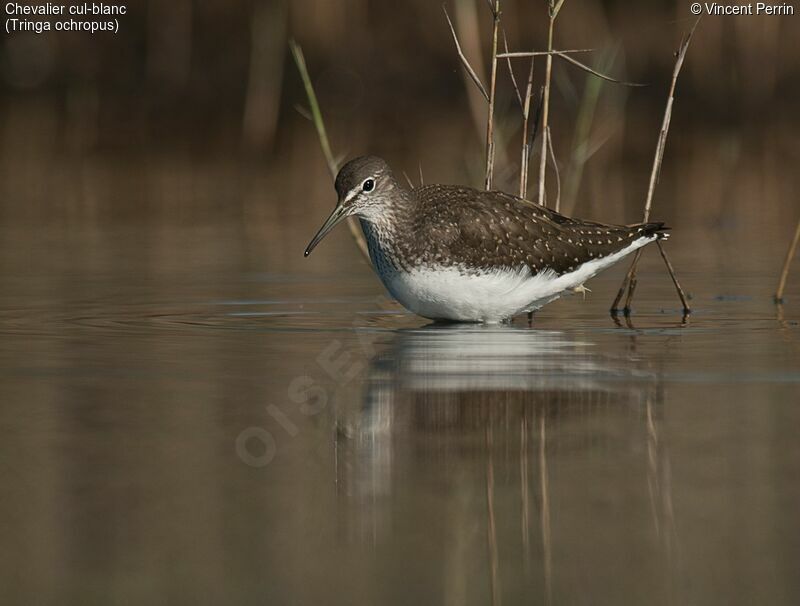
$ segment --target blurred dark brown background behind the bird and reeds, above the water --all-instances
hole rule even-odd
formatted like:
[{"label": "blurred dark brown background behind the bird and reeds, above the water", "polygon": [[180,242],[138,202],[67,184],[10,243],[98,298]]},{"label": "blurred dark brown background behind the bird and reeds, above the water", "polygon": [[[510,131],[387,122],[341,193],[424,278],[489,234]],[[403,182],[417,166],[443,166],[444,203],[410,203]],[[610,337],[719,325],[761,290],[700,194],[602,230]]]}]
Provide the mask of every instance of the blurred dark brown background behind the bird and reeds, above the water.
[{"label": "blurred dark brown background behind the bird and reeds, above the water", "polygon": [[[545,4],[503,3],[512,50],[546,46]],[[565,3],[556,47],[596,49],[582,59],[650,84],[600,84],[556,62],[551,124],[568,211],[619,222],[640,216],[673,52],[694,21],[688,7]],[[449,10],[485,80],[488,7],[454,0]],[[673,246],[727,259],[745,240],[778,262],[797,207],[799,19],[711,16],[700,24],[655,201],[654,216],[683,228],[677,234],[697,230]],[[421,166],[428,181],[480,185],[476,124],[485,108],[465,88],[439,3],[134,2],[116,36],[4,35],[3,258],[30,259],[36,236],[19,230],[39,233],[43,221],[56,234],[94,236],[120,225],[205,225],[209,232],[190,237],[202,241],[207,262],[246,242],[234,262],[259,270],[334,267],[338,254],[355,255],[342,233],[329,243],[337,254],[300,265],[333,196],[313,127],[295,109],[306,101],[289,37],[305,50],[337,155],[376,153],[415,181]],[[514,65],[524,80],[526,61]],[[543,71],[542,62],[536,86]],[[496,185],[515,191],[521,120],[506,65],[498,88]],[[535,180],[531,171],[534,190]],[[180,254],[156,256],[169,264]]]}]

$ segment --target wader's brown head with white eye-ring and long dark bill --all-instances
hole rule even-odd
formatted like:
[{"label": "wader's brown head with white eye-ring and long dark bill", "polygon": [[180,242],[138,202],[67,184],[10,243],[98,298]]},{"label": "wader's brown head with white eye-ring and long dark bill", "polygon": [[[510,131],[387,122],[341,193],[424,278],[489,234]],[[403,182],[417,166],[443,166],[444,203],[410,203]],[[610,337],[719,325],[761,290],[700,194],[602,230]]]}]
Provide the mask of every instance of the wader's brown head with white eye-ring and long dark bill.
[{"label": "wader's brown head with white eye-ring and long dark bill", "polygon": [[361,156],[345,164],[336,176],[336,208],[306,248],[305,256],[329,231],[347,217],[376,220],[385,214],[392,194],[400,188],[389,165],[376,156]]}]

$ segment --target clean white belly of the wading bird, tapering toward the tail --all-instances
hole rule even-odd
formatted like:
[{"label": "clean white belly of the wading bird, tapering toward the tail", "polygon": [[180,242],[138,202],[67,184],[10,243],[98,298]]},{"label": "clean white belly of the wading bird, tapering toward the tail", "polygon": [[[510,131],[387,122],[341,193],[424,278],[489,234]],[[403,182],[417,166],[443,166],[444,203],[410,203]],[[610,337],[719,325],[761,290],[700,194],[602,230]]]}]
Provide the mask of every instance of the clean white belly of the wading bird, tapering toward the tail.
[{"label": "clean white belly of the wading bird, tapering toward the tail", "polygon": [[376,268],[389,292],[420,316],[494,323],[539,309],[655,239],[639,238],[623,250],[561,276],[553,271],[532,275],[527,268],[484,273],[456,267],[420,267],[407,272],[388,271],[385,264],[376,264]]}]

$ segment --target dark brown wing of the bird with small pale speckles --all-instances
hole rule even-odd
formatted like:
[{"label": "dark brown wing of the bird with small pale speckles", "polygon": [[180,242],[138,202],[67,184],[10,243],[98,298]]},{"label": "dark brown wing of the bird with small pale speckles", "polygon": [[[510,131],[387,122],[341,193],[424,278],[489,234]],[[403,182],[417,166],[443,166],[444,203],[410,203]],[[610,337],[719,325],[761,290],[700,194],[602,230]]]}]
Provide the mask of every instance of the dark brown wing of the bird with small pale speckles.
[{"label": "dark brown wing of the bird with small pale speckles", "polygon": [[415,194],[420,216],[426,217],[417,236],[439,261],[457,259],[469,267],[524,265],[534,273],[550,269],[561,275],[665,229],[662,223],[621,226],[571,219],[496,191],[430,185]]}]

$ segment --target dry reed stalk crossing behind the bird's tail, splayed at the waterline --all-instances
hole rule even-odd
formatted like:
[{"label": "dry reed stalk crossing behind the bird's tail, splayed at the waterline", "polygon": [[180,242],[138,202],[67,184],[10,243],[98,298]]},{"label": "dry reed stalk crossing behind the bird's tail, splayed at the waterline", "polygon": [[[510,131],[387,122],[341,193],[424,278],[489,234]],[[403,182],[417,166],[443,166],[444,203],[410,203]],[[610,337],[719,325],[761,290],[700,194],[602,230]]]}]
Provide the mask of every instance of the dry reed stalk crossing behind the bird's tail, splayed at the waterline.
[{"label": "dry reed stalk crossing behind the bird's tail, splayed at the waterline", "polygon": [[[675,102],[675,87],[678,83],[678,76],[680,75],[681,68],[683,67],[683,61],[686,58],[686,51],[689,50],[689,44],[692,41],[692,36],[694,35],[695,29],[697,29],[697,24],[700,23],[700,19],[695,21],[694,26],[686,34],[681,41],[681,45],[678,48],[677,58],[675,60],[675,67],[672,70],[672,82],[670,84],[669,89],[669,96],[667,97],[667,105],[664,109],[664,119],[661,123],[661,131],[658,135],[658,142],[656,144],[656,153],[655,157],[653,158],[653,168],[650,172],[650,184],[647,189],[647,199],[645,200],[644,205],[644,218],[643,222],[646,223],[650,220],[650,209],[653,206],[653,194],[656,190],[656,185],[658,184],[659,177],[661,175],[661,164],[664,160],[664,149],[667,145],[667,135],[669,134],[669,126],[670,121],[672,120],[672,107]],[[664,251],[663,246],[659,243],[659,251],[661,252],[661,257],[664,259],[664,264],[667,267],[667,271],[669,272],[670,278],[672,279],[672,283],[675,285],[675,290],[678,293],[678,298],[681,300],[681,304],[683,305],[683,313],[684,315],[691,312],[689,305],[686,300],[686,294],[684,293],[683,289],[681,288],[680,283],[678,282],[678,278],[675,276],[675,272],[672,268],[672,264],[669,262],[669,258],[667,257],[666,251]],[[633,262],[631,263],[631,267],[628,270],[628,273],[625,275],[625,278],[622,281],[622,286],[617,293],[614,302],[611,304],[611,313],[617,313],[619,309],[619,303],[622,300],[622,296],[625,292],[625,289],[628,289],[628,296],[625,299],[625,308],[623,311],[625,314],[629,314],[631,311],[631,302],[633,301],[633,295],[636,292],[636,269],[639,265],[639,259],[642,257],[642,249],[636,251],[636,254],[633,257]]]}]

